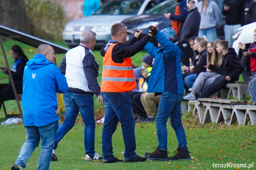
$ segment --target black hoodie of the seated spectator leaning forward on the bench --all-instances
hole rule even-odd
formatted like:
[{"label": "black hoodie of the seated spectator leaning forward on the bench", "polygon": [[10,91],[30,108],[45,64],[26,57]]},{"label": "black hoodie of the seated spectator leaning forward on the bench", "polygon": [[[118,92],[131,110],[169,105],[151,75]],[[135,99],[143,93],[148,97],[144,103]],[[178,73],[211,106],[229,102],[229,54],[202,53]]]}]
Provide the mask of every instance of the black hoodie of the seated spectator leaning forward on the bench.
[{"label": "black hoodie of the seated spectator leaning forward on the bench", "polygon": [[239,79],[239,75],[244,71],[244,66],[236,57],[236,52],[234,48],[228,48],[228,53],[222,57],[221,67],[214,65],[209,65],[209,69],[217,74],[222,74],[224,76],[229,76],[234,82]]}]

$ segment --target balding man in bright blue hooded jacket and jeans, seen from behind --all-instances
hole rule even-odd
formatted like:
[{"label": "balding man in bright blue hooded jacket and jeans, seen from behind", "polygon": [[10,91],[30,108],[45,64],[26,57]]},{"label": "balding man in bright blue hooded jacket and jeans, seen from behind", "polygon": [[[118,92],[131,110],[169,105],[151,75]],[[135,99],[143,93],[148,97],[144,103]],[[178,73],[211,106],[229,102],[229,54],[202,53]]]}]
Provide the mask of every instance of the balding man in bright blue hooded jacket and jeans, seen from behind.
[{"label": "balding man in bright blue hooded jacket and jeans, seen from behind", "polygon": [[28,158],[39,145],[40,138],[42,142],[37,170],[49,169],[59,127],[56,93],[65,93],[68,90],[66,77],[53,64],[54,58],[53,48],[42,44],[24,69],[22,108],[27,140],[21,147],[12,170],[25,168]]}]

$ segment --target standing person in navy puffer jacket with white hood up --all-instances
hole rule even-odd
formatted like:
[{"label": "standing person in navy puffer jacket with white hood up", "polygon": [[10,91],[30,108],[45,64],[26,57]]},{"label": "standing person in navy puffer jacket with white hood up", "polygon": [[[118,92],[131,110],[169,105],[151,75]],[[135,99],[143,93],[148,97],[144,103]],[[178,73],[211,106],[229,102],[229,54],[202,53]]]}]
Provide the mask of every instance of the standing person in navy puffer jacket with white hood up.
[{"label": "standing person in navy puffer jacket with white hood up", "polygon": [[180,58],[180,62],[187,67],[189,66],[189,58],[193,56],[193,50],[190,48],[188,39],[193,36],[197,37],[199,32],[201,16],[198,12],[197,6],[197,0],[187,0],[187,11],[189,14],[182,26],[180,34],[180,41],[184,47],[184,53]]}]

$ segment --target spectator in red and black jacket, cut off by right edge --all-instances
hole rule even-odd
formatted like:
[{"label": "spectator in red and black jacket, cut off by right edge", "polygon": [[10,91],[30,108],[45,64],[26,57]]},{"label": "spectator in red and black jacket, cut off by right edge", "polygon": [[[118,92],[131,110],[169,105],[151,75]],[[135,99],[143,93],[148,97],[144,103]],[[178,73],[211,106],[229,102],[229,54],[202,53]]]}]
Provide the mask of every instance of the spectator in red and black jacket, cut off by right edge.
[{"label": "spectator in red and black jacket, cut off by right edge", "polygon": [[250,65],[252,76],[254,77],[249,82],[249,94],[252,99],[252,103],[256,105],[256,29],[253,31],[254,42],[250,44],[249,48],[246,48],[245,44],[238,43],[238,46],[243,50],[245,57],[250,57]]}]

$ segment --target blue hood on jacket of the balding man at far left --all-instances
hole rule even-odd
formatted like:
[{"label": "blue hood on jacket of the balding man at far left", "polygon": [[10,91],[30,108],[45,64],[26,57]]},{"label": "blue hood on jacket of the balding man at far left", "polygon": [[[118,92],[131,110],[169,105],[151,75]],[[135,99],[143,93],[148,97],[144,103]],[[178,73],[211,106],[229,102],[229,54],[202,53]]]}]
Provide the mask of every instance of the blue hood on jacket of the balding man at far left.
[{"label": "blue hood on jacket of the balding man at far left", "polygon": [[47,60],[43,54],[36,54],[33,57],[33,59],[30,59],[27,62],[27,66],[31,69],[44,67],[47,64],[53,64],[53,63]]}]

